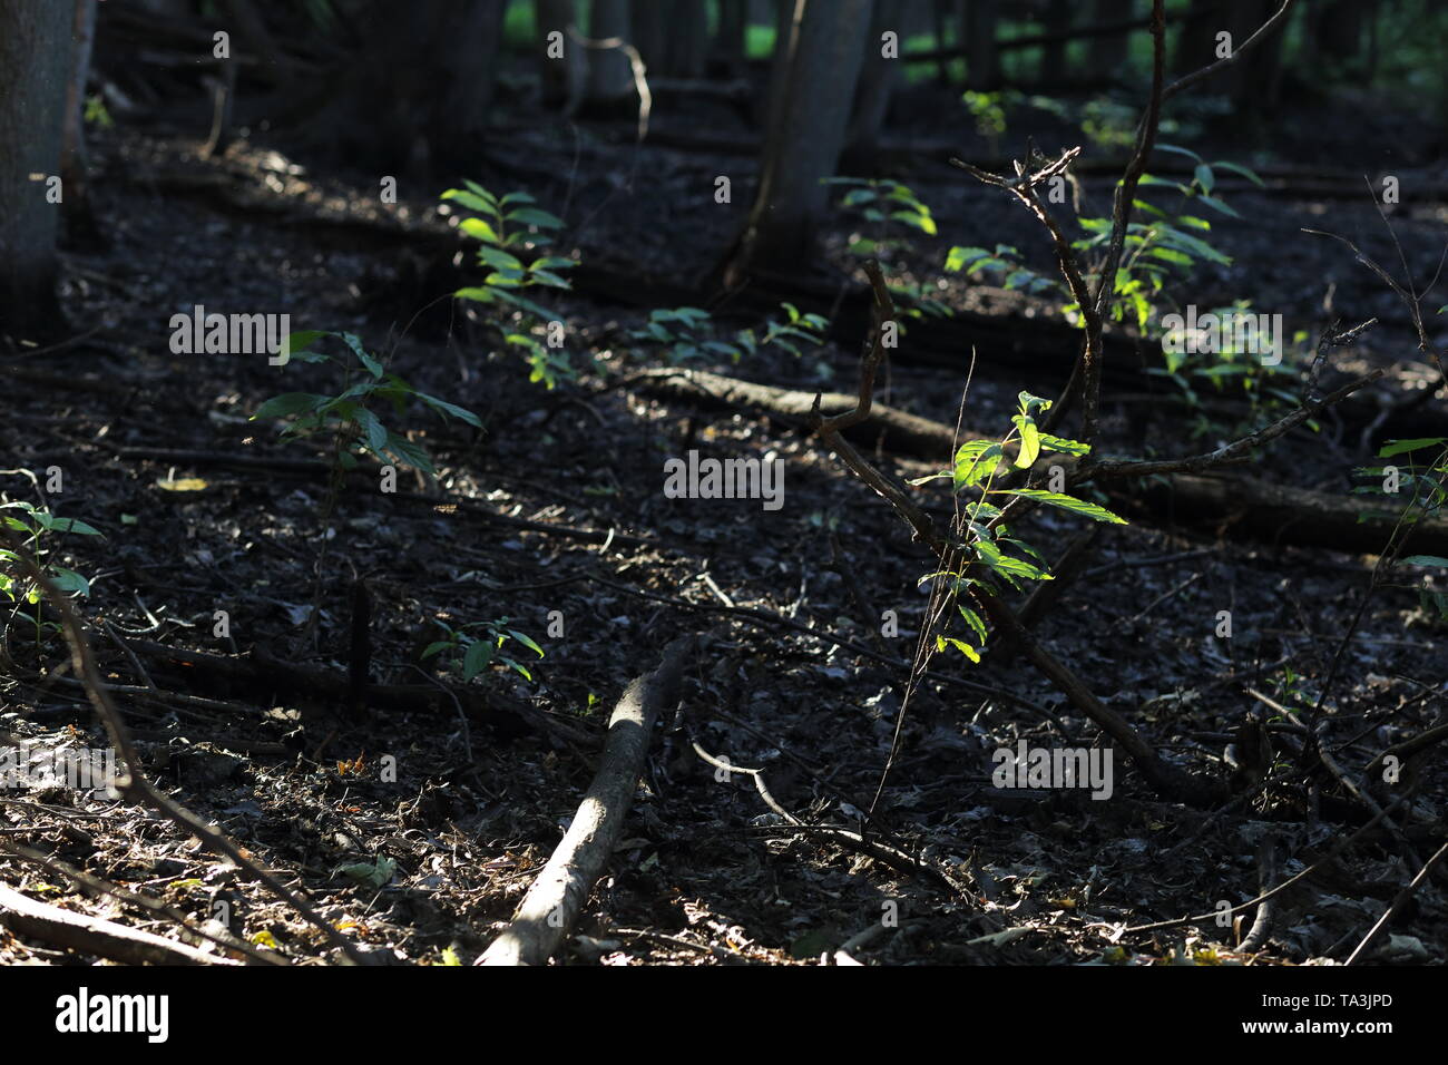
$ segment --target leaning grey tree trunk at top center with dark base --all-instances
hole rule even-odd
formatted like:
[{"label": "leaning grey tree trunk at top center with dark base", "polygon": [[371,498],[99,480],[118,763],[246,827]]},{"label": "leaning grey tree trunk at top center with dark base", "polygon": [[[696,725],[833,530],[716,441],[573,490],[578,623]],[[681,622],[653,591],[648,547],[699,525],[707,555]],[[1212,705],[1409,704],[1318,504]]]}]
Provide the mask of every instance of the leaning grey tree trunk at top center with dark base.
[{"label": "leaning grey tree trunk at top center with dark base", "polygon": [[850,101],[864,55],[872,0],[795,0],[789,38],[776,55],[778,99],[749,223],[725,284],[756,267],[799,268],[844,145]]}]

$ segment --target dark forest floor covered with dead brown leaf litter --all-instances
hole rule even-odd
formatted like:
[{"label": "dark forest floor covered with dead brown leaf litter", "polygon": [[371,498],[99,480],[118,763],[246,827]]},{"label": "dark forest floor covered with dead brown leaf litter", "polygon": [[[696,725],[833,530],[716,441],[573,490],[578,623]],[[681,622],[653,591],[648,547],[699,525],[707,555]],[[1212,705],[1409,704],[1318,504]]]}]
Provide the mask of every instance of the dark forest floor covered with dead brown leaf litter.
[{"label": "dark forest floor covered with dead brown leaf litter", "polygon": [[[959,109],[941,99],[941,109]],[[669,119],[656,117],[656,130],[727,133],[731,122],[682,113],[670,128]],[[1296,116],[1296,128],[1312,119]],[[992,154],[993,145],[957,125],[961,151]],[[935,123],[937,138],[941,129],[951,132]],[[1074,143],[1041,122],[1012,126],[1001,151],[1022,143],[1025,132],[1047,151]],[[1403,199],[1413,206],[1393,223],[1423,284],[1442,252],[1442,168],[1394,155],[1400,130],[1358,133],[1403,162]],[[7,364],[4,465],[42,478],[59,467],[56,513],[104,533],[62,536],[54,558],[90,578],[90,596],[77,606],[93,623],[94,651],[119,685],[148,774],[304,887],[358,942],[408,962],[466,964],[559,842],[614,700],[657,665],[673,636],[699,633],[708,639],[688,664],[681,709],[659,729],[626,838],[560,961],[814,962],[851,937],[853,958],[885,964],[1341,961],[1442,842],[1434,827],[1448,803],[1442,759],[1418,771],[1407,836],[1370,833],[1284,894],[1260,952],[1234,952],[1251,911],[1235,927],[1203,920],[1125,932],[1213,911],[1219,900],[1242,903],[1257,894],[1264,839],[1277,842],[1277,874],[1289,875],[1368,814],[1331,778],[1270,784],[1225,810],[1193,810],[1154,794],[1119,751],[1106,801],[1086,791],[993,787],[990,755],[999,748],[1105,743],[1008,651],[992,649],[980,665],[937,655],[901,723],[906,661],[925,609],[918,584],[931,569],[921,545],[808,433],[757,412],[711,410],[634,387],[631,375],[663,364],[656,349],[627,338],[646,317],[649,285],[672,291],[670,281],[686,285],[707,271],[746,210],[753,159],[698,145],[636,148],[631,136],[627,123],[542,130],[520,122],[472,175],[498,193],[526,188],[562,214],[566,246],[585,265],[640,278],[639,300],[610,301],[582,284],[553,300],[579,377],[549,391],[527,381],[517,356],[489,355],[488,323],[469,320],[462,304],[445,300],[410,322],[423,303],[476,274],[466,259],[449,265],[463,245],[434,210],[440,187],[404,180],[400,206],[382,207],[375,175],[298,165],[261,141],[201,161],[197,138],[178,130],[98,135],[93,194],[107,246],[67,255],[65,306],[78,330],[100,329],[72,348]],[[1215,152],[1192,145],[1209,159],[1255,162],[1229,143]],[[1296,149],[1284,143],[1283,156]],[[1316,149],[1321,159],[1293,161],[1325,171],[1338,158],[1332,143]],[[941,303],[1001,316],[1008,327],[1060,319],[1058,301],[940,270],[951,245],[1005,243],[1048,271],[1047,243],[1027,212],[940,158],[905,159],[896,172],[931,206],[940,230],[912,238],[892,264],[896,277],[931,284]],[[720,174],[734,175],[733,206],[712,199]],[[1423,203],[1415,187],[1435,188],[1436,199]],[[1089,177],[1085,193],[1108,213],[1111,178]],[[1347,325],[1377,316],[1380,326],[1360,345],[1334,354],[1326,384],[1384,368],[1376,388],[1392,401],[1431,380],[1392,293],[1347,248],[1300,233],[1331,229],[1396,264],[1365,188],[1322,199],[1295,193],[1290,180],[1266,190],[1232,181],[1221,194],[1242,216],[1219,219],[1212,233],[1232,264],[1193,275],[1195,303],[1250,294],[1255,307],[1283,313],[1289,332],[1312,338],[1335,316]],[[856,268],[846,249],[856,227],[837,217],[827,229],[837,277]],[[195,304],[285,310],[294,329],[353,332],[390,369],[475,412],[485,427],[413,412],[405,425],[439,465],[436,487],[404,472],[400,491],[382,494],[363,467],[329,513],[324,469],[291,462],[326,462],[326,451],[281,443],[274,425],[248,420],[269,396],[323,388],[321,371],[172,354],[171,314]],[[730,304],[715,307],[715,319],[731,329],[760,325],[736,319]],[[1134,343],[1131,329],[1116,332]],[[1444,332],[1434,329],[1435,342]],[[799,356],[766,349],[737,365],[694,365],[850,391],[862,339],[831,339]],[[982,348],[975,355],[963,427],[999,435],[1018,391],[1057,394],[1074,349],[1067,345],[1048,365]],[[882,398],[954,425],[970,365],[970,351],[953,367],[912,361],[906,332]],[[1300,372],[1289,380],[1296,390]],[[1239,423],[1270,417],[1231,390],[1199,409],[1150,378],[1138,377],[1129,393],[1109,393],[1111,454],[1195,454],[1231,439]],[[1442,400],[1420,413],[1441,422]],[[1347,497],[1352,467],[1370,464],[1381,442],[1365,429],[1325,417],[1322,432],[1287,435],[1251,474]],[[782,458],[783,509],[665,498],[663,459],[691,449]],[[948,461],[876,458],[901,477]],[[38,501],[12,474],[7,497]],[[950,506],[948,493],[933,487],[918,498],[941,511]],[[1032,516],[1018,535],[1054,562],[1083,525],[1053,511]],[[1266,707],[1250,688],[1310,706],[1374,562],[1361,552],[1250,539],[1228,514],[1189,525],[1132,511],[1129,525],[1103,527],[1080,549],[1079,574],[1037,635],[1170,762],[1221,778],[1224,748],[1248,713]],[[443,678],[437,659],[418,659],[433,639],[432,619],[508,619],[546,653],[527,653],[531,680],[501,667],[473,680],[476,701],[466,707],[434,698],[374,706],[362,717],[346,717],[336,698],[268,681],[265,669],[261,681],[226,677],[209,659],[185,658],[262,651],[264,667],[281,661],[345,675],[358,578],[372,603],[374,684],[426,691]],[[217,610],[227,611],[227,638],[214,635]],[[882,651],[876,619],[886,610],[896,611],[899,632]],[[1219,610],[1232,613],[1231,639],[1215,635]],[[61,640],[36,642],[23,622],[7,633],[0,736],[103,746]],[[1334,749],[1352,772],[1444,720],[1442,633],[1412,588],[1373,597],[1326,700]],[[139,651],[135,659],[123,642]],[[1273,756],[1287,765],[1293,726],[1274,722]],[[896,732],[899,755],[872,822],[872,832],[909,855],[892,868],[808,824],[860,826]],[[695,745],[760,769],[773,800],[807,827],[772,811],[753,775],[720,772]],[[384,778],[385,764],[395,765],[395,781]],[[295,959],[326,949],[295,913],[155,814],[65,788],[7,793],[0,811],[6,839],[161,897],[198,923],[224,898],[232,927],[246,937]],[[70,909],[175,935],[129,906],[85,900],[62,877],[19,859],[0,855],[0,877]],[[898,923],[882,923],[895,914]],[[1442,962],[1445,929],[1442,884],[1425,885],[1376,956]],[[62,959],[0,932],[0,962]]]}]

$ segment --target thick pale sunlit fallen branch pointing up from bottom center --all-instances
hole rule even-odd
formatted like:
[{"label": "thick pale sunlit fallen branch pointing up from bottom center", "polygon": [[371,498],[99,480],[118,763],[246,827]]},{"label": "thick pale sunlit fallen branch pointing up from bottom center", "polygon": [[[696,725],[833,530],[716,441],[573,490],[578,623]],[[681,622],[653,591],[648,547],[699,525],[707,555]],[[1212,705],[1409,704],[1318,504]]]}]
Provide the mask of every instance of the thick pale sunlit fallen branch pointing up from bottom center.
[{"label": "thick pale sunlit fallen branch pointing up from bottom center", "polygon": [[683,659],[692,636],[673,640],[652,674],[633,681],[613,716],[594,782],[573,814],[563,842],[523,897],[513,920],[475,962],[476,965],[546,965],[588,901],[594,882],[614,852],[649,736],[659,714],[679,701]]}]

